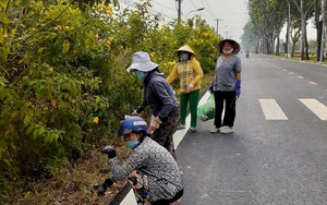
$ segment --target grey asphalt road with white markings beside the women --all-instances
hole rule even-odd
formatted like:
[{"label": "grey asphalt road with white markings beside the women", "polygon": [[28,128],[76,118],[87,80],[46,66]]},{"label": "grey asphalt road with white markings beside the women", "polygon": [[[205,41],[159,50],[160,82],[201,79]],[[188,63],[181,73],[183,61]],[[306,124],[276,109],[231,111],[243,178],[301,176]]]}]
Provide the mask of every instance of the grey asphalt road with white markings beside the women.
[{"label": "grey asphalt road with white markings beside the women", "polygon": [[243,56],[234,133],[175,133],[182,205],[327,205],[327,67]]}]

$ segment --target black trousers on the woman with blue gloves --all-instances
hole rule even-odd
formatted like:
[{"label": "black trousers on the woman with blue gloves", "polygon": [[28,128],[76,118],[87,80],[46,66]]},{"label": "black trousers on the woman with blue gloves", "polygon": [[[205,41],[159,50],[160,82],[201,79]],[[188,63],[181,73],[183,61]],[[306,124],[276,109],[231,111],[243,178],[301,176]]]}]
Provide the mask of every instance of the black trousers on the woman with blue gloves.
[{"label": "black trousers on the woman with blue gloves", "polygon": [[[235,105],[237,95],[235,92],[214,92],[215,95],[215,126],[233,126],[235,120]],[[222,118],[222,111],[223,118]]]}]

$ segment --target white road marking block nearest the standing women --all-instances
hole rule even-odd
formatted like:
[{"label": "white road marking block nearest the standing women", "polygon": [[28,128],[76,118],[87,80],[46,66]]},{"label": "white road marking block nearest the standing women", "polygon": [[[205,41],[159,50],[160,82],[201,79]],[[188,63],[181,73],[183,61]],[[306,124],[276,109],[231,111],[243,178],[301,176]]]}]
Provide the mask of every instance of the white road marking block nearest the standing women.
[{"label": "white road marking block nearest the standing women", "polygon": [[266,120],[288,120],[275,99],[259,99]]}]

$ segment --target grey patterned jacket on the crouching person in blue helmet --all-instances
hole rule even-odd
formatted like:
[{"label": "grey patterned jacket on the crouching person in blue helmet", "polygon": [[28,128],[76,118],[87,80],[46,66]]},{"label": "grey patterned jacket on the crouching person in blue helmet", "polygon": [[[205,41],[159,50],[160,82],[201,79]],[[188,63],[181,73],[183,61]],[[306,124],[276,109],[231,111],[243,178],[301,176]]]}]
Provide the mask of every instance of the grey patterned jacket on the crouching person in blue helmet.
[{"label": "grey patterned jacket on the crouching person in blue helmet", "polygon": [[150,200],[170,200],[183,189],[181,171],[172,155],[149,137],[138,144],[123,165],[109,159],[112,181],[123,180],[133,170],[147,176]]}]

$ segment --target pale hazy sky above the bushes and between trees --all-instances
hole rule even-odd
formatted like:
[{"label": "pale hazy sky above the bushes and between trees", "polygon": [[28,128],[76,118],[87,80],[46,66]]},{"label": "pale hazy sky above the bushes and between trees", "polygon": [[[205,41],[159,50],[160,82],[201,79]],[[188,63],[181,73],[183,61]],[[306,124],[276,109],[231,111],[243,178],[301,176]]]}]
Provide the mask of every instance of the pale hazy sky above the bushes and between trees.
[{"label": "pale hazy sky above the bushes and between trees", "polygon": [[[121,0],[124,5],[131,5],[141,0]],[[152,0],[153,8],[150,13],[161,13],[167,22],[178,17],[178,2],[175,0]],[[247,0],[182,0],[181,20],[199,14],[202,19],[217,31],[223,38],[232,38],[241,41],[243,27],[249,21]],[[203,11],[195,11],[204,8]],[[310,21],[312,22],[312,21]],[[281,32],[280,38],[284,38],[286,32]],[[315,39],[315,29],[313,25],[307,26],[308,39]]]}]

